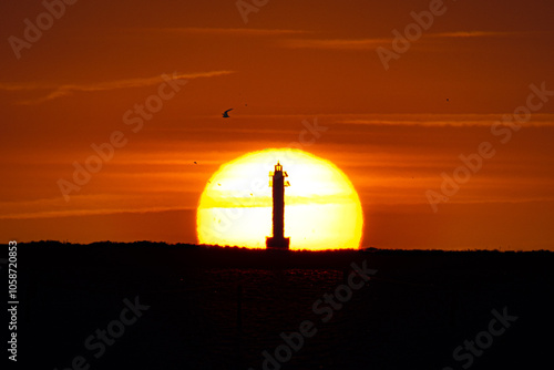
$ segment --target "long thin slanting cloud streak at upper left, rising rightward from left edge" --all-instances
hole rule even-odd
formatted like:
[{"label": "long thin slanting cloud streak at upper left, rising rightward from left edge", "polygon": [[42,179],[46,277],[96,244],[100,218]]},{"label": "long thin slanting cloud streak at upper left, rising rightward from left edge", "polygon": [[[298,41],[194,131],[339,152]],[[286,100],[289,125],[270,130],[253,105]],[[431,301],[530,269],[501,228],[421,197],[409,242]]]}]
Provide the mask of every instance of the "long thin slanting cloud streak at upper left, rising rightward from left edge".
[{"label": "long thin slanting cloud streak at upper left, rising rightward from left edge", "polygon": [[[201,78],[214,78],[235,73],[234,71],[211,71],[211,72],[197,72],[197,73],[177,73],[167,74],[166,79],[171,80],[193,80]],[[162,75],[151,76],[151,78],[135,78],[125,80],[114,80],[104,81],[96,83],[85,83],[85,84],[38,84],[38,83],[0,83],[0,90],[3,91],[43,91],[50,90],[47,95],[41,97],[21,101],[19,104],[30,105],[40,104],[50,100],[58,97],[71,95],[76,92],[99,92],[99,91],[111,91],[120,89],[133,89],[133,88],[145,88],[157,85],[164,81]]]}]

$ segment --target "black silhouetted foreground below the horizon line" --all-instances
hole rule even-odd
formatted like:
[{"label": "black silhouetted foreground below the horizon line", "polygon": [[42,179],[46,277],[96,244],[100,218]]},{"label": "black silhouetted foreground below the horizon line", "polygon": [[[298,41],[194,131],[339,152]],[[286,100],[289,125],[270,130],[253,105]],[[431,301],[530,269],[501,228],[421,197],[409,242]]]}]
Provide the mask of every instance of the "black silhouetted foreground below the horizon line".
[{"label": "black silhouetted foreground below the horizon line", "polygon": [[18,369],[542,369],[553,362],[554,254],[547,251],[35,243],[18,245]]}]

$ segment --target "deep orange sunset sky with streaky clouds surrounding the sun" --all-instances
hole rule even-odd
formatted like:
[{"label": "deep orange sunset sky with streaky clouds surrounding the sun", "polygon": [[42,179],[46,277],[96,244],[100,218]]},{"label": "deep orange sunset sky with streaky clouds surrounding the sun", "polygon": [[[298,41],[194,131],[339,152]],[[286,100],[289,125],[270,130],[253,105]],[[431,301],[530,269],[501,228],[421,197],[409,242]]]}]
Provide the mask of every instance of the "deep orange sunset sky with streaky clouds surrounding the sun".
[{"label": "deep orange sunset sky with streaky clouds surrounding the sun", "polygon": [[1,243],[197,243],[219,166],[294,145],[348,176],[365,247],[554,250],[552,0],[431,1],[427,30],[429,1],[256,2],[2,1]]}]

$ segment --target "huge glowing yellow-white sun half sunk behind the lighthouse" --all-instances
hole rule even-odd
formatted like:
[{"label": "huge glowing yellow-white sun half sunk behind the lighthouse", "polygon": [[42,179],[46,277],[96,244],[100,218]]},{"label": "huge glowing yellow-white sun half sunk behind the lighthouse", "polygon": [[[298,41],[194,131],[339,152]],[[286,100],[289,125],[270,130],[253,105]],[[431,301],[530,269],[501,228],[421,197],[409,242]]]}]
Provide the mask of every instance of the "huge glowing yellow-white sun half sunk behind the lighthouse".
[{"label": "huge glowing yellow-white sun half sunk behind the lighthouse", "polygon": [[199,199],[198,241],[266,247],[273,209],[268,175],[277,162],[290,182],[285,189],[290,249],[358,248],[363,214],[352,183],[329,161],[294,148],[252,152],[222,165]]}]

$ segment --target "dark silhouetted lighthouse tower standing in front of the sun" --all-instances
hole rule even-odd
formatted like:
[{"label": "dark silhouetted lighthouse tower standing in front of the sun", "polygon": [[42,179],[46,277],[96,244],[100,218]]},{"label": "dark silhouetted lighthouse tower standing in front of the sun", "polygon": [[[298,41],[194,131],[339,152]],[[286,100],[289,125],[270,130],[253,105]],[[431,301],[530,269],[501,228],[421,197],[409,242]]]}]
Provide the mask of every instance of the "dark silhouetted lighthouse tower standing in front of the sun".
[{"label": "dark silhouetted lighthouse tower standing in front of the sun", "polygon": [[285,237],[285,187],[290,184],[285,177],[288,175],[277,162],[275,171],[269,173],[269,186],[273,186],[274,198],[274,236],[266,238],[267,248],[288,249],[290,245],[290,238]]}]

